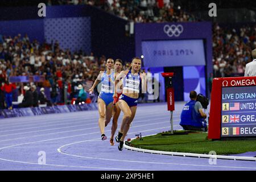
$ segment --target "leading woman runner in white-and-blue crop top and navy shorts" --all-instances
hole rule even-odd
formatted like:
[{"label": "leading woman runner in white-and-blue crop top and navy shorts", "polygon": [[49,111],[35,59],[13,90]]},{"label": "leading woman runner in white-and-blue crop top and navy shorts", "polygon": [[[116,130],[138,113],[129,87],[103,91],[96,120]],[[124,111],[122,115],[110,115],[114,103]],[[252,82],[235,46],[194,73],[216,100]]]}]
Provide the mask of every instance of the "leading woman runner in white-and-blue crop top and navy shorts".
[{"label": "leading woman runner in white-and-blue crop top and navy shorts", "polygon": [[142,93],[146,92],[146,73],[139,73],[140,69],[141,59],[135,57],[132,59],[131,69],[122,71],[115,78],[115,93],[113,97],[117,97],[117,84],[123,78],[123,92],[118,101],[118,106],[123,112],[123,121],[121,129],[117,137],[115,137],[116,142],[119,142],[118,149],[120,151],[123,148],[126,134],[130,129],[130,123],[135,117],[140,88],[142,88]]}]

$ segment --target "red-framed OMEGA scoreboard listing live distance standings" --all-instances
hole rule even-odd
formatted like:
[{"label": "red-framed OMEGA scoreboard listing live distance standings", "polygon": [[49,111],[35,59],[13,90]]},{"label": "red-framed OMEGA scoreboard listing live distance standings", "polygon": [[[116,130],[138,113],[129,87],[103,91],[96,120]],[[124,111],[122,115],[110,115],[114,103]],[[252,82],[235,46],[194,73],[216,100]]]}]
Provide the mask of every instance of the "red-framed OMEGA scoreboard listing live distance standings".
[{"label": "red-framed OMEGA scoreboard listing live distance standings", "polygon": [[210,139],[256,137],[256,77],[214,78]]}]

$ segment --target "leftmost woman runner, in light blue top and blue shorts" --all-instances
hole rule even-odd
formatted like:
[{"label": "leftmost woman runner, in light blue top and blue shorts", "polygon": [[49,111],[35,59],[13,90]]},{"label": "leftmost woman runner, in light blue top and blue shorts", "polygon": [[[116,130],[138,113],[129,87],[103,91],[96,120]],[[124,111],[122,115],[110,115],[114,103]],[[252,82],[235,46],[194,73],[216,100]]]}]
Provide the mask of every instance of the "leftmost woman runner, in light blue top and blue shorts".
[{"label": "leftmost woman runner, in light blue top and blue shorts", "polygon": [[101,71],[97,79],[94,81],[89,92],[93,92],[96,85],[101,82],[101,92],[98,96],[98,126],[100,126],[101,139],[106,140],[105,123],[109,123],[113,113],[113,94],[114,94],[114,60],[108,59],[106,61],[106,71]]}]

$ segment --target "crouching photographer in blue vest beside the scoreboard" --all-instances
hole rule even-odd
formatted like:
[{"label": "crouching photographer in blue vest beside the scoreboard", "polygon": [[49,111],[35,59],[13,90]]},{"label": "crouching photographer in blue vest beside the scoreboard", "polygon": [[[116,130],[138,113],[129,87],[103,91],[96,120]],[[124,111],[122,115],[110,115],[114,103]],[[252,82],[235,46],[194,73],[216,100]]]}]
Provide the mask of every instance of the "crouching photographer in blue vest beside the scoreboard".
[{"label": "crouching photographer in blue vest beside the scoreboard", "polygon": [[[203,111],[202,101],[197,101],[197,97],[200,97],[200,99],[205,102],[208,102],[208,99],[200,94],[197,96],[196,91],[191,91],[189,97],[191,100],[185,104],[181,112],[180,126],[182,126],[184,130],[207,131],[207,123],[205,121],[207,114]],[[206,104],[206,109],[208,104]]]}]

